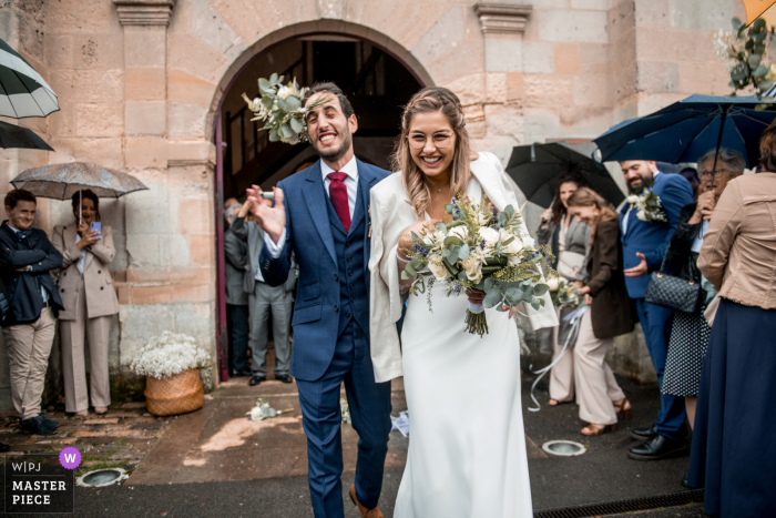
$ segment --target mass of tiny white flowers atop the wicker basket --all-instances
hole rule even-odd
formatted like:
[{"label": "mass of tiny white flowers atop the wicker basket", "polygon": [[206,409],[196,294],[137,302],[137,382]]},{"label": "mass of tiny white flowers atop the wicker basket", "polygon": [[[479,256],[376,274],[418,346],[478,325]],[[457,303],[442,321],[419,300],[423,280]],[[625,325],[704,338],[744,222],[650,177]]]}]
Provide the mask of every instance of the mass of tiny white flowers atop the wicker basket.
[{"label": "mass of tiny white flowers atop the wicker basket", "polygon": [[163,378],[204,367],[210,360],[210,354],[198,347],[194,338],[165,331],[137,351],[131,367],[141,376]]}]

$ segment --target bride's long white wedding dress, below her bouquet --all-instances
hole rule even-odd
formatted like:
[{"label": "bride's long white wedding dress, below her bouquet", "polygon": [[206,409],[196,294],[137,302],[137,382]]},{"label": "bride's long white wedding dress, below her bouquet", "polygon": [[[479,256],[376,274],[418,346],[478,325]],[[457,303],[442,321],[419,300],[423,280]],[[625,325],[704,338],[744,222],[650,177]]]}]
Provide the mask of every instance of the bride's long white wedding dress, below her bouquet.
[{"label": "bride's long white wedding dress, below her bouquet", "polygon": [[[467,186],[480,200],[476,179]],[[466,294],[409,297],[401,331],[409,455],[395,518],[533,516],[520,399],[520,338],[507,313],[464,331]]]}]

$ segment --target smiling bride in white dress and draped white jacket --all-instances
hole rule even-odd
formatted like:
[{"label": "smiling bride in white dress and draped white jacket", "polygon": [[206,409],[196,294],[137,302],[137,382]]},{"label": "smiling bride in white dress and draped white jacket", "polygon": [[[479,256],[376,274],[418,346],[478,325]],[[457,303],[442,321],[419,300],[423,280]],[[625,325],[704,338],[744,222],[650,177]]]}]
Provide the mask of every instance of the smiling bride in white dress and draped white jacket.
[{"label": "smiling bride in white dress and draped white jacket", "polygon": [[[479,203],[518,207],[501,162],[469,148],[460,101],[445,88],[418,92],[405,109],[395,170],[371,189],[371,357],[377,382],[405,377],[409,456],[397,518],[531,517],[531,488],[520,398],[520,343],[512,311],[486,309],[490,333],[464,332],[467,297],[446,297],[441,283],[407,298],[400,281],[410,231],[451,220],[456,186]],[[523,228],[527,233],[527,230]],[[558,325],[549,295],[528,307],[532,327]],[[408,301],[401,329],[396,323]],[[431,307],[429,307],[429,302]],[[501,309],[504,309],[506,306]],[[508,309],[508,308],[507,308]]]}]

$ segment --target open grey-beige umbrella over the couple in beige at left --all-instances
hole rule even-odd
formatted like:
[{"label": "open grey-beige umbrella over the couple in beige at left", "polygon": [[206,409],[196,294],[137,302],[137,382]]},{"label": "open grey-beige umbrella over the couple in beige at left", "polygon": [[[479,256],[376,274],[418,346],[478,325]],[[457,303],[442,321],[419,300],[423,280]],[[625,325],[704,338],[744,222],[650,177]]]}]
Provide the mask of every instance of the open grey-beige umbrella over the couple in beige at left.
[{"label": "open grey-beige umbrella over the couple in beige at left", "polygon": [[100,197],[121,197],[147,190],[136,177],[91,162],[72,162],[28,169],[11,180],[16,189],[35,196],[70,200],[74,193],[91,189]]}]

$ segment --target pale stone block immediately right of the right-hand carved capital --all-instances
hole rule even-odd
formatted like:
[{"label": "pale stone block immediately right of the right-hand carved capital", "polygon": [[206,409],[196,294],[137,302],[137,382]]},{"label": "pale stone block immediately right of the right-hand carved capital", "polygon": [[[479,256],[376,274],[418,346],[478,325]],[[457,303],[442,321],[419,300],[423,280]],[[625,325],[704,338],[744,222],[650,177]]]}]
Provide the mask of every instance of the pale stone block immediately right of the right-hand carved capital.
[{"label": "pale stone block immediately right of the right-hand carved capital", "polygon": [[531,23],[547,41],[607,43],[606,19],[604,11],[545,10],[537,11]]}]

